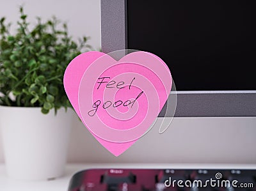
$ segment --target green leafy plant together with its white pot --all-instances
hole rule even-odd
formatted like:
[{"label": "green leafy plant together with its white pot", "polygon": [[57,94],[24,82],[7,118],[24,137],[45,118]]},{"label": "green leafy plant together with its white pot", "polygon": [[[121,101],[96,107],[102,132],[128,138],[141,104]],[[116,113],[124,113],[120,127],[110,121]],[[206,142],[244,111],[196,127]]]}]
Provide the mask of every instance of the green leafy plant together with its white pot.
[{"label": "green leafy plant together with its white pot", "polygon": [[20,7],[17,33],[0,20],[0,126],[8,174],[42,180],[63,174],[72,112],[63,88],[68,63],[90,49],[56,18],[30,27]]}]

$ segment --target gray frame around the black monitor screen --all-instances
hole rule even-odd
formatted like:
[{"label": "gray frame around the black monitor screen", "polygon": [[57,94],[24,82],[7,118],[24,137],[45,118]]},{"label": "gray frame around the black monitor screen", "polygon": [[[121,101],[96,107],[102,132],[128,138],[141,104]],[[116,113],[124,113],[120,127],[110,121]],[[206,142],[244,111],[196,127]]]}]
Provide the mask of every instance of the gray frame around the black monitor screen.
[{"label": "gray frame around the black monitor screen", "polygon": [[[101,0],[101,43],[102,51],[105,53],[127,49],[126,2],[127,0]],[[256,90],[177,90],[176,93],[177,109],[175,117],[256,116]],[[164,116],[164,111],[163,109],[160,112],[159,117]],[[167,116],[170,116],[170,114],[167,113]]]}]

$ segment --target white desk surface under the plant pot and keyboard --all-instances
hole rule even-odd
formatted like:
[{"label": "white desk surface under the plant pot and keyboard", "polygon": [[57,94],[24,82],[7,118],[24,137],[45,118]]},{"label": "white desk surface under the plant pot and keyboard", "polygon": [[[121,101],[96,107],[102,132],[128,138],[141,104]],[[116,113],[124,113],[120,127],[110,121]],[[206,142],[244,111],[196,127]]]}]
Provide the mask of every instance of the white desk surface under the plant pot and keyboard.
[{"label": "white desk surface under the plant pot and keyboard", "polygon": [[68,164],[62,178],[50,181],[18,181],[8,178],[4,164],[0,164],[2,191],[67,191],[73,174],[92,168],[151,168],[151,169],[256,169],[256,165],[237,164]]}]

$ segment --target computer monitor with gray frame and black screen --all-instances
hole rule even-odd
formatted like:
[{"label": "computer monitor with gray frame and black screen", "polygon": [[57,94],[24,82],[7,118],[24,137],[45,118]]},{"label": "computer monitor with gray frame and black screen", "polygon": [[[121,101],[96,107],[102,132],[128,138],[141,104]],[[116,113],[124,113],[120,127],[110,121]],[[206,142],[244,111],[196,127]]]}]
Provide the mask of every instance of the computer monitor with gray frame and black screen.
[{"label": "computer monitor with gray frame and black screen", "polygon": [[249,1],[102,0],[102,51],[161,57],[176,117],[256,116],[253,12]]}]

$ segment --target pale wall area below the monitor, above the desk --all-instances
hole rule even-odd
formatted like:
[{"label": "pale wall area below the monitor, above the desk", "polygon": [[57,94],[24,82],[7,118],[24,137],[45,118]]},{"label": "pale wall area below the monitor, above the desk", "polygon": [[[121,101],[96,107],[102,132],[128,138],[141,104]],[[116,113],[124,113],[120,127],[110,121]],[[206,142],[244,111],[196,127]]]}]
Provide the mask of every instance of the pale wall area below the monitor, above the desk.
[{"label": "pale wall area below the monitor, above the desk", "polygon": [[74,118],[68,161],[256,164],[255,125],[255,117],[174,118],[163,134],[156,123],[131,148],[114,157]]}]

